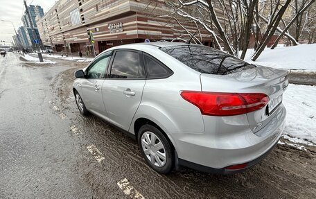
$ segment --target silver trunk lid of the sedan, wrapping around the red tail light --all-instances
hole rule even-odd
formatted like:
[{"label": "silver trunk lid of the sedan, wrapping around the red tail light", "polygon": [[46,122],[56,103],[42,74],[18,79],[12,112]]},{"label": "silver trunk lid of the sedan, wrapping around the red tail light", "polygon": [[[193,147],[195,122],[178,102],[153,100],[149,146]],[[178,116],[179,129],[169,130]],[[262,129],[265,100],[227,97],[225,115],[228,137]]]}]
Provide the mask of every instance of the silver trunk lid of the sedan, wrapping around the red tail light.
[{"label": "silver trunk lid of the sedan, wrapping around the red tail light", "polygon": [[282,103],[283,92],[288,87],[288,71],[256,66],[225,76],[202,73],[202,92],[263,93],[269,96],[265,107],[247,113],[249,127],[256,133],[274,116]]}]

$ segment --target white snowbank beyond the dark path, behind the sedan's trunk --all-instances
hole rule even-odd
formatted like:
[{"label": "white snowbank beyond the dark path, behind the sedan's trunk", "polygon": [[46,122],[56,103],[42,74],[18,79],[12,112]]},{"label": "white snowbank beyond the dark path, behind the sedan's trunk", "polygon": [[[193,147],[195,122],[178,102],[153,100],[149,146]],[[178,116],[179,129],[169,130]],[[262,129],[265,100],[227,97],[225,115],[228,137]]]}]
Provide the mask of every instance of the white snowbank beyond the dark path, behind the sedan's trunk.
[{"label": "white snowbank beyond the dark path, behind the sedan's trunk", "polygon": [[251,58],[254,54],[254,49],[248,49],[245,61],[277,69],[316,71],[315,52],[316,44],[277,47],[274,50],[265,49],[259,58],[252,62]]}]

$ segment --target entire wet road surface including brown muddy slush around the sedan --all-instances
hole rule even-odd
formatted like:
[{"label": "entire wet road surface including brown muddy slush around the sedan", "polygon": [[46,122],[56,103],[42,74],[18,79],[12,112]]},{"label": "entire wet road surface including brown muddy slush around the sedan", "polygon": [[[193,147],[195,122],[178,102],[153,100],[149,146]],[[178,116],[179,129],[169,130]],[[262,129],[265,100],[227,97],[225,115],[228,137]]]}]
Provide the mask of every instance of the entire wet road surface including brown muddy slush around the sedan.
[{"label": "entire wet road surface including brown muddy slush around the sedan", "polygon": [[0,198],[315,198],[315,148],[278,146],[237,175],[155,173],[133,139],[79,114],[73,71],[87,63],[55,61],[0,58]]}]

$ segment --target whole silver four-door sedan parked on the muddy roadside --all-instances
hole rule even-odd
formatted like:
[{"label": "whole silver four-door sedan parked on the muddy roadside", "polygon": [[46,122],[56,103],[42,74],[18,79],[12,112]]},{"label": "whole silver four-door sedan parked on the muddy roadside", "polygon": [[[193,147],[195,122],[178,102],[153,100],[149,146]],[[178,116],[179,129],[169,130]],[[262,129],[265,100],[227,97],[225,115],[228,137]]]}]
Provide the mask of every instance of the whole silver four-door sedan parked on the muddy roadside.
[{"label": "whole silver four-door sedan parked on the muddy roadside", "polygon": [[127,44],[76,71],[73,93],[81,114],[133,135],[159,173],[238,173],[281,137],[287,73],[197,44]]}]

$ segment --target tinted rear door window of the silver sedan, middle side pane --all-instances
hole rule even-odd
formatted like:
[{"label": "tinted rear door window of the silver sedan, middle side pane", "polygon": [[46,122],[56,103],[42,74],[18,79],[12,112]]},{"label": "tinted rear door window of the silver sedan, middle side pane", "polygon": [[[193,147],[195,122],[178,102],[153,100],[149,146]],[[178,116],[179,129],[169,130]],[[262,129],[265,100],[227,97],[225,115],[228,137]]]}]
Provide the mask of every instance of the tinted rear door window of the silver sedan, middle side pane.
[{"label": "tinted rear door window of the silver sedan, middle side pane", "polygon": [[113,60],[109,78],[137,79],[145,78],[139,53],[134,51],[117,51]]}]

